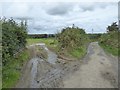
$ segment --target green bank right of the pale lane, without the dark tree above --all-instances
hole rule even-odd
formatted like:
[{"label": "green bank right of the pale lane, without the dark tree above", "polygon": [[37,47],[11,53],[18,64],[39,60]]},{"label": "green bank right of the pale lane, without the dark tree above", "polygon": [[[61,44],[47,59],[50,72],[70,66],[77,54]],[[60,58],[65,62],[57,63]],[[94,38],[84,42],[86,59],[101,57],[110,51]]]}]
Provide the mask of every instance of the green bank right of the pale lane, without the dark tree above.
[{"label": "green bank right of the pale lane, without the dark tree above", "polygon": [[120,56],[118,36],[120,32],[109,32],[103,34],[100,38],[99,45],[105,50],[105,52],[110,53],[114,56]]}]

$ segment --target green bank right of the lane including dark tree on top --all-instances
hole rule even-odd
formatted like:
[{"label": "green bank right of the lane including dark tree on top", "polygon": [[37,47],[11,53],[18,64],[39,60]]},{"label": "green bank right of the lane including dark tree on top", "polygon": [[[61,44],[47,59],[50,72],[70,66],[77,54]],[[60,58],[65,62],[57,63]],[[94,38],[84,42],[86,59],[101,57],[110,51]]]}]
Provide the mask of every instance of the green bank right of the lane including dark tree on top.
[{"label": "green bank right of the lane including dark tree on top", "polygon": [[118,25],[116,23],[113,23],[109,27],[108,33],[105,33],[100,38],[100,45],[105,49],[105,51],[120,56],[120,50],[119,48],[119,42],[118,38],[120,35],[120,32],[118,30]]}]

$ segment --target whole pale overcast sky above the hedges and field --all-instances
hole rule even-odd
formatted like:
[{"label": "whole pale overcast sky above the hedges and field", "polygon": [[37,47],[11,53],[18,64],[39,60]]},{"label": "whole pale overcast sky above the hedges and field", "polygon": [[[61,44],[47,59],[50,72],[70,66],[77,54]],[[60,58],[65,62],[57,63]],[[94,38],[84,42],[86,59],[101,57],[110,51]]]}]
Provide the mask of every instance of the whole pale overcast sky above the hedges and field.
[{"label": "whole pale overcast sky above the hedges and field", "polygon": [[21,18],[28,22],[29,34],[53,34],[62,28],[77,27],[86,33],[105,33],[108,25],[118,21],[118,2],[38,2],[6,1],[0,2],[0,15]]}]

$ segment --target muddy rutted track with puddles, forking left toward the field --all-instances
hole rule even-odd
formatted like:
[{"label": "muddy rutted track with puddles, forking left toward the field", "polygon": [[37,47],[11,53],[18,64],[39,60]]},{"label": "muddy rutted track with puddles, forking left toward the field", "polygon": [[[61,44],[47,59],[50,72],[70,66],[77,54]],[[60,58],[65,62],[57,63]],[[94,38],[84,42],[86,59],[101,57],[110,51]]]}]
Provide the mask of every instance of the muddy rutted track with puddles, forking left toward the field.
[{"label": "muddy rutted track with puddles, forking left toward the field", "polygon": [[[57,55],[50,51],[45,44],[36,44],[44,48],[48,53],[48,59],[32,58],[23,67],[21,79],[16,88],[58,88],[63,87],[63,78],[78,69],[79,61],[65,61],[58,59]],[[31,45],[32,47],[36,45]],[[59,61],[59,62],[58,62]]]}]

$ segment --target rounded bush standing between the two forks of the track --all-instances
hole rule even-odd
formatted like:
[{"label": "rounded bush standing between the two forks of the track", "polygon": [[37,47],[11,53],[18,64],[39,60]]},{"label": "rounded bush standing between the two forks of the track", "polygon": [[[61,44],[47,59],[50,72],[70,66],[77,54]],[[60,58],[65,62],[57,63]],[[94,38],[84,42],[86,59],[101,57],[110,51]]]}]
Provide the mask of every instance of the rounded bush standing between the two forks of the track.
[{"label": "rounded bush standing between the two forks of the track", "polygon": [[84,41],[88,38],[86,37],[83,29],[67,27],[62,30],[57,39],[61,44],[61,48],[73,48],[82,46]]}]

